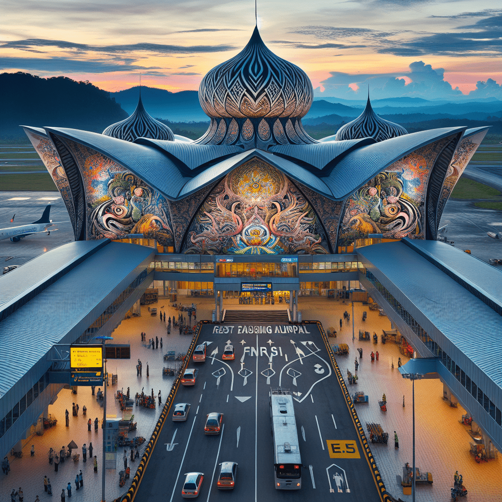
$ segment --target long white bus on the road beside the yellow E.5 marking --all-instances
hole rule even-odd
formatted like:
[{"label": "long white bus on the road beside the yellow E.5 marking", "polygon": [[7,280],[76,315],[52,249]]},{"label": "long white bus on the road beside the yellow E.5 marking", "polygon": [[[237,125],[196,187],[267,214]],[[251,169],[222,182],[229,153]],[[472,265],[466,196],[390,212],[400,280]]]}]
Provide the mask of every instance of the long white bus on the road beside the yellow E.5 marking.
[{"label": "long white bus on the road beside the yellow E.5 marking", "polygon": [[276,490],[299,490],[302,487],[302,460],[293,396],[289,390],[271,390],[270,416]]}]

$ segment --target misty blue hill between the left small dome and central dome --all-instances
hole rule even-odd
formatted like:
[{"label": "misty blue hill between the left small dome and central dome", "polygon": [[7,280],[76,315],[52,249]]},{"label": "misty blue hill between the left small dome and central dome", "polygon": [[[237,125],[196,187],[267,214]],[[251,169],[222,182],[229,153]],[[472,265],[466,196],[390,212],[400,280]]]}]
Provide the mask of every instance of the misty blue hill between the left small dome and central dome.
[{"label": "misty blue hill between the left small dome and central dome", "polygon": [[[131,87],[119,92],[110,92],[117,103],[129,114],[138,104],[140,87]],[[202,111],[197,91],[170,92],[155,87],[141,87],[141,100],[145,109],[155,118],[173,122],[199,122],[209,120]]]}]

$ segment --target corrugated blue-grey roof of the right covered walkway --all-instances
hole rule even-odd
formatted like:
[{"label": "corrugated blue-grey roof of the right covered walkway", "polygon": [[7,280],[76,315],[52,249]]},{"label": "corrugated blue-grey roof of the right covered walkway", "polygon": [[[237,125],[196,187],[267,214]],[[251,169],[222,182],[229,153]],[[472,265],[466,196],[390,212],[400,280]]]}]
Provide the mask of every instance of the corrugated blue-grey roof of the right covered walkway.
[{"label": "corrugated blue-grey roof of the right covered walkway", "polygon": [[[455,250],[443,245],[443,258],[447,259],[446,255],[451,253],[454,260]],[[502,319],[494,310],[404,242],[360,247],[357,253],[399,288],[458,350],[502,386],[500,361],[494,359],[502,346]],[[474,269],[478,266],[475,258],[463,255]],[[498,277],[491,280],[499,281]]]}]

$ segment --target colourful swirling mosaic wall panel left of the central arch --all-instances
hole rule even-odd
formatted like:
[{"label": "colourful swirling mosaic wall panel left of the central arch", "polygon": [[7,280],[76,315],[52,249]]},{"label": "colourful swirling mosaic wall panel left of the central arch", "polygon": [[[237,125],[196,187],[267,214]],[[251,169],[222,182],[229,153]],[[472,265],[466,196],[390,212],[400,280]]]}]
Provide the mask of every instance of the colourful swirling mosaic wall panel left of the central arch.
[{"label": "colourful swirling mosaic wall panel left of the central arch", "polygon": [[143,233],[173,246],[167,200],[135,174],[104,155],[65,140],[82,173],[87,204],[87,238],[121,238]]}]

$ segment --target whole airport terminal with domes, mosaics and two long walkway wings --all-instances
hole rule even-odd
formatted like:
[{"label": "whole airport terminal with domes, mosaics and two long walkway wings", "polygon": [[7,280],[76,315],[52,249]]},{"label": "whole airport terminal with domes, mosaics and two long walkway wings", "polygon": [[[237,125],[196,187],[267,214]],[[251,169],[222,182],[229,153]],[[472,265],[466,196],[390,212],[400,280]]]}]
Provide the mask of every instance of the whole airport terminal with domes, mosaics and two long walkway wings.
[{"label": "whole airport terminal with domes, mosaics and two long walkway wings", "polygon": [[[502,372],[490,362],[502,341],[502,274],[436,240],[487,128],[408,134],[368,98],[358,118],[316,141],[301,122],[310,80],[258,29],[203,78],[199,99],[211,122],[196,141],[173,135],[141,97],[101,135],[24,126],[75,242],[2,279],[2,351],[20,336],[33,350],[0,384],[0,454],[63,385],[52,346],[110,333],[154,281],[165,296],[214,296],[215,322],[228,297],[284,301],[299,322],[303,296],[360,285],[424,359],[414,371],[440,378],[500,450]],[[60,322],[55,306],[70,282],[81,288]],[[25,316],[38,319],[36,336],[30,325],[20,334]]]}]

